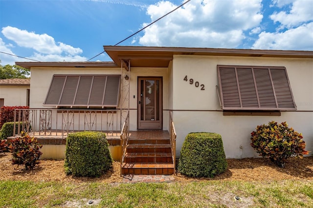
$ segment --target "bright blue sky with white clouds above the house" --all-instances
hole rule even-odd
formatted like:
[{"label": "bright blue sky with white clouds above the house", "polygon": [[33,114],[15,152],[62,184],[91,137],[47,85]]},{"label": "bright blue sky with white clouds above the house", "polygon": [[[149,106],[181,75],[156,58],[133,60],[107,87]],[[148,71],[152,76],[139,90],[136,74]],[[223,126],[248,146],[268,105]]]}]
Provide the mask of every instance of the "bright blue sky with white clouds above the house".
[{"label": "bright blue sky with white clouds above the house", "polygon": [[[0,0],[0,51],[87,61],[184,1]],[[119,45],[313,50],[313,0],[191,0]],[[1,65],[29,61],[4,53]]]}]

